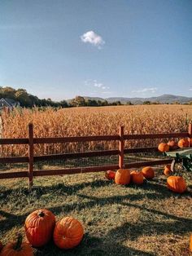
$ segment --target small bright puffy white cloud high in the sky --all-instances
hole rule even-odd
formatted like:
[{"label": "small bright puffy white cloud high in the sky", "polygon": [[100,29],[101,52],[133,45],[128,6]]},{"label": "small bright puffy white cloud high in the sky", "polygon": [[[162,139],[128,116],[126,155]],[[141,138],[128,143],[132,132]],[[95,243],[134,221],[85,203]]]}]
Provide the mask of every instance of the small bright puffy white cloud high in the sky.
[{"label": "small bright puffy white cloud high in the sky", "polygon": [[82,42],[89,42],[90,44],[97,46],[98,49],[101,49],[101,46],[105,44],[105,41],[101,36],[99,36],[97,33],[94,33],[94,31],[88,31],[84,33],[81,36]]}]

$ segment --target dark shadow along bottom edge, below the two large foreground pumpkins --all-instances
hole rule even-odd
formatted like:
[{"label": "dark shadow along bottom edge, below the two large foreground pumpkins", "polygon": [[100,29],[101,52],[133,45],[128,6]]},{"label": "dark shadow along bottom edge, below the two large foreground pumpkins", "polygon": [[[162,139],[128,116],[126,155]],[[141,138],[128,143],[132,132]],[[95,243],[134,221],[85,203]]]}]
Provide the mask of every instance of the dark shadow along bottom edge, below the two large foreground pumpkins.
[{"label": "dark shadow along bottom edge, below the two large foreground pumpkins", "polygon": [[143,255],[143,256],[153,256],[148,252],[143,252],[130,247],[125,247],[120,245],[120,243],[111,243],[111,237],[105,236],[98,238],[96,236],[90,236],[89,233],[85,233],[81,244],[74,249],[63,250],[59,249],[54,245],[53,241],[50,241],[48,245],[41,249],[34,249],[36,256],[59,256],[59,255],[93,255],[93,256],[103,256],[103,255]]}]

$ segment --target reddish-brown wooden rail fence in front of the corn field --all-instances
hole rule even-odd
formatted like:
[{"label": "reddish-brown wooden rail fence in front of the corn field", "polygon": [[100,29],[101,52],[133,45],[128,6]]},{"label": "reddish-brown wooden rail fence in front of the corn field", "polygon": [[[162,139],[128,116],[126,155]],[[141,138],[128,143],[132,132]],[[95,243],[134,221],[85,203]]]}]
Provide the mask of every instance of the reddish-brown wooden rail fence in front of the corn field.
[{"label": "reddish-brown wooden rail fence in front of the corn field", "polygon": [[[13,179],[28,177],[29,188],[33,186],[33,177],[45,175],[63,175],[63,174],[78,174],[87,172],[98,172],[104,170],[116,170],[119,168],[134,168],[141,166],[156,166],[170,163],[172,160],[164,159],[158,161],[142,161],[124,164],[124,154],[137,152],[154,152],[157,147],[151,148],[124,148],[124,140],[126,139],[163,139],[163,138],[183,138],[192,137],[192,125],[189,125],[188,132],[181,133],[164,133],[153,135],[124,135],[124,127],[120,126],[119,135],[103,135],[103,136],[84,136],[84,137],[62,137],[62,138],[34,138],[33,137],[33,123],[28,125],[28,138],[24,139],[0,139],[2,144],[28,144],[28,157],[0,157],[0,164],[5,163],[28,163],[28,170],[18,172],[0,173],[0,179]],[[103,150],[92,152],[76,152],[63,153],[46,156],[33,156],[34,144],[37,143],[71,143],[71,142],[88,142],[88,141],[119,141],[119,148],[115,150]],[[37,161],[50,161],[57,159],[72,159],[81,157],[103,157],[103,156],[119,156],[119,163],[111,166],[91,166],[83,168],[69,168],[56,170],[33,170],[33,164]]]}]

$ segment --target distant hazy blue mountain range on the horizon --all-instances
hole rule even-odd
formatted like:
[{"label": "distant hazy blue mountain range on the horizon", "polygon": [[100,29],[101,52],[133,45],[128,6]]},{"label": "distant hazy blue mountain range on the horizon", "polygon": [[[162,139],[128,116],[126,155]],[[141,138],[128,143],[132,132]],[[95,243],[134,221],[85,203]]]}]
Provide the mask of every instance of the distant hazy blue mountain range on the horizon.
[{"label": "distant hazy blue mountain range on the horizon", "polygon": [[192,101],[192,97],[178,96],[178,95],[161,95],[158,97],[150,97],[150,98],[124,98],[124,97],[111,97],[111,98],[98,98],[98,97],[87,97],[84,96],[85,99],[94,99],[94,100],[107,100],[107,102],[115,102],[120,101],[122,104],[126,104],[127,102],[131,102],[132,104],[142,104],[144,101],[151,102],[159,102],[160,104],[172,104],[175,102],[185,104]]}]

